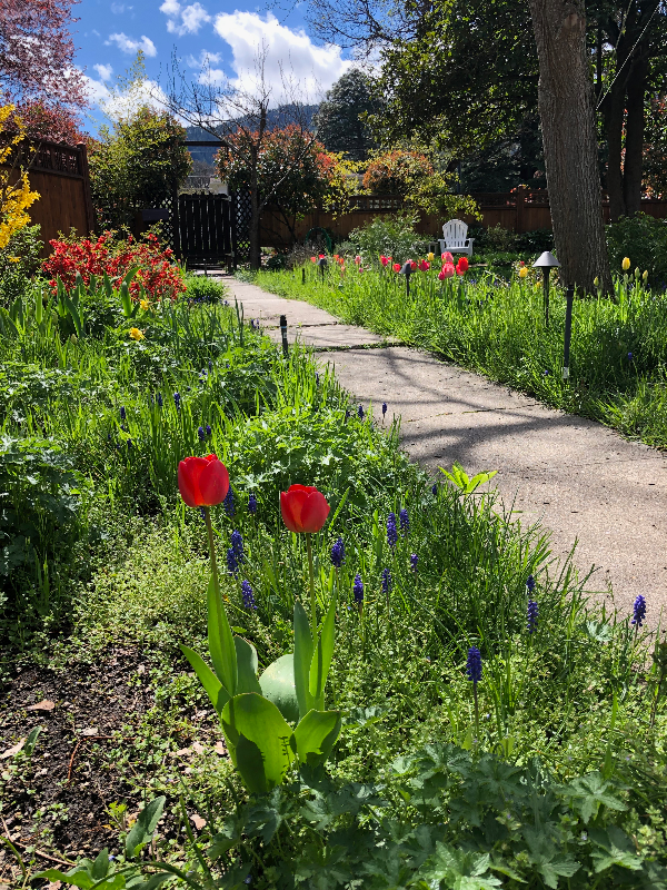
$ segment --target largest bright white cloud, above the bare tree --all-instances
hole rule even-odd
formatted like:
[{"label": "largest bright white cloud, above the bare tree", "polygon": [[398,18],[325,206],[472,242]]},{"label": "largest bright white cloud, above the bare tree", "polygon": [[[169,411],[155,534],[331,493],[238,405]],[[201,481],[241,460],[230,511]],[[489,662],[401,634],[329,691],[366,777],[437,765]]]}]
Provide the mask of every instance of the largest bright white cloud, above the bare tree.
[{"label": "largest bright white cloud, above the bare tree", "polygon": [[305,99],[318,101],[352,65],[341,58],[340,47],[317,47],[303,30],[286,28],[271,12],[266,18],[239,10],[223,12],[216,17],[215,28],[231,47],[233,85],[241,90],[255,91],[257,52],[266,48],[265,79],[275,85],[275,102],[285,98],[280,95],[283,76],[298,85]]}]

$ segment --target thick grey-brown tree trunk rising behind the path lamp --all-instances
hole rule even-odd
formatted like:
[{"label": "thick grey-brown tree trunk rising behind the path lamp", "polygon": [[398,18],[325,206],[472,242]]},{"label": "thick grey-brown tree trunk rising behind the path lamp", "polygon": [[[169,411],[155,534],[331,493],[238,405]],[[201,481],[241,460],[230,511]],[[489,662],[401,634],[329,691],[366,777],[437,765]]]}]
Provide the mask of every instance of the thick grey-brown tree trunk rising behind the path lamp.
[{"label": "thick grey-brown tree trunk rising behind the path lamp", "polygon": [[554,241],[566,285],[611,289],[584,4],[530,0]]}]

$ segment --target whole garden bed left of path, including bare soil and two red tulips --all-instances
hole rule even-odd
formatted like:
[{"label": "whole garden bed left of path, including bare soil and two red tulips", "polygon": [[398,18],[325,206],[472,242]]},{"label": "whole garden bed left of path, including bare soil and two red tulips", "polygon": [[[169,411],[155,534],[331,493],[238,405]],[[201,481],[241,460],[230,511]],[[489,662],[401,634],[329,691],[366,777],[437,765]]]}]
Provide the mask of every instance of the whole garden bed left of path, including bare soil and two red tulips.
[{"label": "whole garden bed left of path, including bare soil and two red tulips", "polygon": [[[24,524],[0,528],[2,878],[667,886],[650,597],[587,601],[490,474],[428,478],[380,406],[219,286],[143,307],[130,284],[2,316],[3,510]],[[219,479],[181,469],[179,493],[183,464]],[[308,639],[303,714],[283,671]],[[272,702],[292,753],[220,686]],[[330,745],[303,742],[317,712]]]}]

